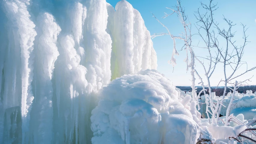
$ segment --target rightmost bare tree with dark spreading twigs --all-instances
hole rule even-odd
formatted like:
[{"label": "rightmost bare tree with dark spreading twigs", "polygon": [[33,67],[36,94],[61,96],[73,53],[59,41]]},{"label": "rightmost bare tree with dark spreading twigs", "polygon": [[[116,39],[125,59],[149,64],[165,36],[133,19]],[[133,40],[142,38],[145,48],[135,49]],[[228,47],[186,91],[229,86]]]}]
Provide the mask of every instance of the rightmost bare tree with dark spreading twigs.
[{"label": "rightmost bare tree with dark spreading twigs", "polygon": [[[246,25],[243,25],[241,23],[242,29],[243,29],[243,44],[238,46],[236,45],[236,40],[233,40],[234,36],[235,36],[235,32],[232,31],[233,26],[235,26],[236,24],[233,24],[233,22],[231,22],[230,20],[226,19],[225,17],[223,18],[224,21],[227,23],[228,25],[228,29],[220,29],[218,27],[218,24],[215,22],[215,28],[218,30],[218,35],[220,35],[222,38],[224,38],[224,41],[226,42],[225,47],[219,47],[219,42],[218,40],[220,38],[217,38],[217,36],[213,36],[212,38],[212,43],[213,45],[218,49],[218,52],[221,55],[221,58],[219,59],[219,61],[221,63],[223,63],[223,67],[224,67],[224,80],[221,80],[222,82],[224,82],[224,92],[223,92],[223,96],[221,98],[220,101],[220,106],[218,107],[218,114],[217,114],[217,122],[219,120],[219,114],[221,112],[221,107],[224,101],[224,97],[226,95],[226,91],[227,91],[227,84],[234,84],[232,81],[234,81],[235,79],[237,79],[239,76],[244,75],[245,73],[254,70],[256,67],[252,67],[250,69],[248,69],[247,63],[242,61],[242,56],[244,54],[244,50],[245,47],[248,43],[247,38],[248,36],[245,34],[246,30],[248,28],[246,28]],[[240,73],[240,74],[236,74],[237,71],[239,70],[239,68],[242,65],[246,65],[246,70],[244,70],[244,72]],[[227,69],[229,71],[231,71],[230,74],[227,74]],[[241,84],[242,82],[246,82],[249,81],[252,77],[245,79],[243,81],[238,82],[237,84]]]}]

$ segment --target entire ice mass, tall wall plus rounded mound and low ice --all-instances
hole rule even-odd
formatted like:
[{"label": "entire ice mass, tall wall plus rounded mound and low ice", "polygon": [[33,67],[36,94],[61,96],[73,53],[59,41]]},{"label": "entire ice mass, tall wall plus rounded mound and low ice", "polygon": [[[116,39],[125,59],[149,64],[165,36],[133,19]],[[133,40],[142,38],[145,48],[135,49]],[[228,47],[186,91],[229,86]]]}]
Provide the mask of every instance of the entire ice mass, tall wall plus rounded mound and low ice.
[{"label": "entire ice mass, tall wall plus rounded mound and low ice", "polygon": [[[0,143],[231,143],[244,129],[201,122],[191,95],[155,70],[150,33],[127,1],[0,6]],[[254,113],[255,95],[237,93],[231,112]]]}]

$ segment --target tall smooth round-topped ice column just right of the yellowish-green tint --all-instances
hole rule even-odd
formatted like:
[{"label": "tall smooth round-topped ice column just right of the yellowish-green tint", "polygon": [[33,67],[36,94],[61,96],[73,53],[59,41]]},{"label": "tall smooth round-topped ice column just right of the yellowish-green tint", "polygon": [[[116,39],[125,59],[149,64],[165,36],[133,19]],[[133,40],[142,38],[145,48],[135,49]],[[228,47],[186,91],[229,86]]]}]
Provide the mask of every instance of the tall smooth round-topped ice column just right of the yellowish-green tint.
[{"label": "tall smooth round-topped ice column just right of the yellowish-green tint", "polygon": [[[116,4],[116,35],[117,58],[120,60],[120,75],[134,73],[134,45],[133,45],[133,7],[127,1],[119,1]],[[125,15],[125,17],[124,17]],[[125,35],[122,33],[125,32]]]}]

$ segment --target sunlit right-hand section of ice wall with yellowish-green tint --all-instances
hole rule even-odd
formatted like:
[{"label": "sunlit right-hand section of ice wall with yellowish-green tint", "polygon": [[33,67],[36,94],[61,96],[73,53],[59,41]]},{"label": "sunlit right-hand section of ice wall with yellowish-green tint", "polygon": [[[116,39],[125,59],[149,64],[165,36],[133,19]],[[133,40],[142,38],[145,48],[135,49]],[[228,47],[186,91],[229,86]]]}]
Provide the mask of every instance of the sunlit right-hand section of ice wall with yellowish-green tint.
[{"label": "sunlit right-hand section of ice wall with yellowish-green tint", "polygon": [[112,79],[140,70],[156,69],[157,58],[150,33],[130,3],[119,1],[115,9],[107,4],[107,32],[112,37]]}]

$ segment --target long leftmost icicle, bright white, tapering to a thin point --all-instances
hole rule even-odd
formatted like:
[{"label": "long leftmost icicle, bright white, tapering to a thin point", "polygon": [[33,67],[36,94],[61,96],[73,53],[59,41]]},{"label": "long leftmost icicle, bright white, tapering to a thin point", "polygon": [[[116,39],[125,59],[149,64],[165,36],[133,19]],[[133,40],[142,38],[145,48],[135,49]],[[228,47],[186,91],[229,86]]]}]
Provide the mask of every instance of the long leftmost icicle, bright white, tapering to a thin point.
[{"label": "long leftmost icicle, bright white, tapering to a thin point", "polygon": [[[35,24],[30,20],[29,12],[27,11],[27,5],[29,1],[4,1],[4,7],[6,9],[6,16],[11,20],[11,29],[15,30],[17,36],[14,37],[14,41],[18,42],[15,44],[15,49],[20,49],[20,74],[21,74],[21,115],[22,115],[22,143],[25,143],[25,133],[29,127],[29,113],[31,104],[34,99],[32,89],[29,88],[32,79],[32,63],[31,52],[33,50],[33,41],[37,35],[35,32]],[[20,18],[22,17],[22,19]],[[10,32],[9,32],[10,33]],[[15,61],[15,59],[13,59]],[[18,59],[17,59],[18,60]],[[15,63],[15,62],[14,62]],[[15,66],[15,65],[14,65]],[[13,74],[16,69],[14,68]],[[15,78],[15,77],[14,77]],[[16,78],[15,78],[16,79]],[[13,79],[13,85],[16,85],[16,81]],[[7,85],[6,85],[7,87]],[[15,87],[15,86],[13,86]],[[7,89],[6,89],[7,90]],[[15,88],[13,88],[15,91]],[[13,91],[13,92],[14,92]],[[5,92],[7,94],[7,91]],[[15,98],[18,99],[18,98]],[[5,97],[5,100],[7,98]],[[7,102],[7,101],[6,101]],[[7,103],[5,103],[7,104]],[[7,105],[5,106],[7,107]]]}]

